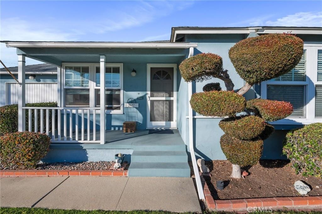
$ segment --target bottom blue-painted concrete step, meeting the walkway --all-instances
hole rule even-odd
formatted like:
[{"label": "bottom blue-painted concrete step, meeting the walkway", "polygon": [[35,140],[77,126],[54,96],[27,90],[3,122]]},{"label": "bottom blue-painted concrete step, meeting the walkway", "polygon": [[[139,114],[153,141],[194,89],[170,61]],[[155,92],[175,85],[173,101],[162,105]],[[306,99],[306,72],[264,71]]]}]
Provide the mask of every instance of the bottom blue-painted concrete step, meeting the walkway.
[{"label": "bottom blue-painted concrete step, meeting the walkway", "polygon": [[132,162],[128,169],[130,177],[190,177],[187,162]]}]

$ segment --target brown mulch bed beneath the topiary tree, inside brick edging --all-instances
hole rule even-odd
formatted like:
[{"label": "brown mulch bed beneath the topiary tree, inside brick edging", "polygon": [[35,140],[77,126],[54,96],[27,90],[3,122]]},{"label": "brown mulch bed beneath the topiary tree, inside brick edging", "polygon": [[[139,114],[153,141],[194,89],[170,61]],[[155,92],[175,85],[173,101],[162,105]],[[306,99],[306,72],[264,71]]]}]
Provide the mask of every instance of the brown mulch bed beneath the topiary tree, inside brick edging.
[{"label": "brown mulch bed beneath the topiary tree, inside brick edging", "polygon": [[[309,196],[322,195],[322,179],[295,174],[289,161],[261,160],[255,166],[242,169],[250,172],[245,179],[230,178],[232,165],[228,161],[206,161],[206,165],[211,170],[211,176],[204,178],[214,200],[300,196],[294,189],[297,180],[311,186]],[[218,180],[224,181],[223,190],[216,190]]]}]

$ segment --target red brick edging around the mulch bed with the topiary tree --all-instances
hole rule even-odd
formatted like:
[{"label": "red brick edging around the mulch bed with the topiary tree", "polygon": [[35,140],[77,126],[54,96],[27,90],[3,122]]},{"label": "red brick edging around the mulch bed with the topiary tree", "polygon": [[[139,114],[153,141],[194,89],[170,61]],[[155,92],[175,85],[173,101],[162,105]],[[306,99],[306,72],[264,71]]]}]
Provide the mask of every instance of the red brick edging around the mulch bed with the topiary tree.
[{"label": "red brick edging around the mulch bed with the topiary tree", "polygon": [[208,185],[204,184],[205,204],[208,209],[220,211],[247,211],[247,208],[267,209],[322,209],[322,196],[274,197],[254,199],[213,200]]}]

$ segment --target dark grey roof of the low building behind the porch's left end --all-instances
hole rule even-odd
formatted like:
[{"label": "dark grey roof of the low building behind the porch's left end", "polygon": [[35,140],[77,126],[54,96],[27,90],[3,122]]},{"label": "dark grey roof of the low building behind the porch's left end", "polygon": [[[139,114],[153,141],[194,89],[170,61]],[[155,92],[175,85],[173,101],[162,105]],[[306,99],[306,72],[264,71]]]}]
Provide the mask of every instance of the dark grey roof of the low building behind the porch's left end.
[{"label": "dark grey roof of the low building behind the porch's left end", "polygon": [[[18,73],[18,66],[17,67],[7,67],[10,72],[13,74]],[[57,66],[43,63],[37,65],[26,65],[25,66],[26,74],[57,74]],[[0,74],[9,74],[5,68],[0,69]]]}]

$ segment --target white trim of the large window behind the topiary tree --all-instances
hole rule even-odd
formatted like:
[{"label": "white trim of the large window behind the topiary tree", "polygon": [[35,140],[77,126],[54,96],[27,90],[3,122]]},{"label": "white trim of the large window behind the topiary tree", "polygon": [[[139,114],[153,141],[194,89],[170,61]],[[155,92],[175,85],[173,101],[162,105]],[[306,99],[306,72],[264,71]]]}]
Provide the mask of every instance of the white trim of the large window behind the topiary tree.
[{"label": "white trim of the large window behind the topiary tree", "polygon": [[322,49],[321,43],[304,43],[306,50],[306,81],[264,81],[261,83],[261,98],[267,98],[267,85],[305,85],[305,118],[286,117],[278,121],[270,122],[273,125],[308,125],[322,122],[322,118],[315,118],[315,85],[322,85],[317,81],[317,50]]}]

